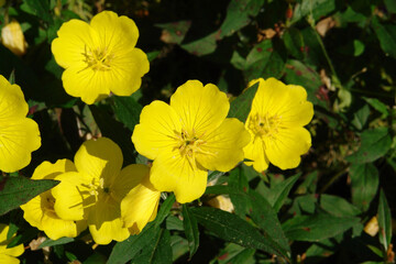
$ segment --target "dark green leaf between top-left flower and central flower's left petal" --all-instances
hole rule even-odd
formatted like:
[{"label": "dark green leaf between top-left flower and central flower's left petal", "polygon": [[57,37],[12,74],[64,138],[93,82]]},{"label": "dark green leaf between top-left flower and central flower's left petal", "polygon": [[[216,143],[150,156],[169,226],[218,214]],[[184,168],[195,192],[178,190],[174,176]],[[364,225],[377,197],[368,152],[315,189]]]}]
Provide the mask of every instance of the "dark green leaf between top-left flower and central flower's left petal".
[{"label": "dark green leaf between top-left flower and central flower's left petal", "polygon": [[133,97],[112,97],[117,118],[131,131],[140,122],[142,106]]}]

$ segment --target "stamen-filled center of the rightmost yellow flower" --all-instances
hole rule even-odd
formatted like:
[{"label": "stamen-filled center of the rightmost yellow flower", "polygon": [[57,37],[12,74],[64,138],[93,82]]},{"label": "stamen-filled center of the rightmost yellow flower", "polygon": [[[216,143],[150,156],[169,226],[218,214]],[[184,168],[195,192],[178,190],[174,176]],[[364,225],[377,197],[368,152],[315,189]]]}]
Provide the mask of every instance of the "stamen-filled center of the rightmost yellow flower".
[{"label": "stamen-filled center of the rightmost yellow flower", "polygon": [[278,133],[278,127],[280,124],[282,117],[270,116],[266,113],[264,117],[256,113],[255,116],[250,117],[249,129],[260,138],[275,138]]}]

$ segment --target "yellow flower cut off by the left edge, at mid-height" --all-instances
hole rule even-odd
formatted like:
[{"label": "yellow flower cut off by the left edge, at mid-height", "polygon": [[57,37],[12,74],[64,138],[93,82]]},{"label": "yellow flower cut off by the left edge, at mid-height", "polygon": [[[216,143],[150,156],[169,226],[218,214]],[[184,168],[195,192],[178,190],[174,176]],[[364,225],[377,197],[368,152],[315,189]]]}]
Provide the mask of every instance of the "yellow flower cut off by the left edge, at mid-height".
[{"label": "yellow flower cut off by the left edge, at mid-height", "polygon": [[0,169],[12,173],[31,162],[41,146],[38,125],[26,118],[29,107],[18,85],[0,75]]}]

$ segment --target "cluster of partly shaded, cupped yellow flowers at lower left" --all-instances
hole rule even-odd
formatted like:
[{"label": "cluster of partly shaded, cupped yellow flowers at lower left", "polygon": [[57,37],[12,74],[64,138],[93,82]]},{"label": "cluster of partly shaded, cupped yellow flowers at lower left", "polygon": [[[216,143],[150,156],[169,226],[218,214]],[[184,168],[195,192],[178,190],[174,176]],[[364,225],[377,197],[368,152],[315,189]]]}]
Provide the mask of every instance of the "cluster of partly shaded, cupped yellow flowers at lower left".
[{"label": "cluster of partly shaded, cupped yellow flowers at lower left", "polygon": [[147,166],[121,169],[122,162],[120,147],[100,138],[86,141],[74,163],[42,163],[32,178],[61,183],[21,206],[23,217],[53,240],[77,237],[87,226],[98,244],[139,233],[155,218],[161,193],[148,182]]}]

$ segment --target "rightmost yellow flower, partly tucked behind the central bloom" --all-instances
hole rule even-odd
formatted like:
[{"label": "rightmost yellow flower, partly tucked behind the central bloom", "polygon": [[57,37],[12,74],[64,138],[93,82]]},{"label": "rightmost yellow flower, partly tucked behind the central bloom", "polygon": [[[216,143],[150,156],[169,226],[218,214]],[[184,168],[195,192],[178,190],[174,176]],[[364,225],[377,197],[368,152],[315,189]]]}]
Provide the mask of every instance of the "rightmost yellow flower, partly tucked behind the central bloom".
[{"label": "rightmost yellow flower, partly tucked behind the central bloom", "polygon": [[312,103],[307,101],[307,92],[300,86],[285,85],[282,81],[255,79],[258,82],[245,128],[251,142],[243,148],[245,162],[257,172],[263,172],[272,163],[287,169],[297,167],[300,155],[311,146],[309,132],[302,127],[314,116]]}]

